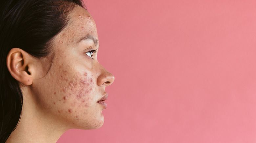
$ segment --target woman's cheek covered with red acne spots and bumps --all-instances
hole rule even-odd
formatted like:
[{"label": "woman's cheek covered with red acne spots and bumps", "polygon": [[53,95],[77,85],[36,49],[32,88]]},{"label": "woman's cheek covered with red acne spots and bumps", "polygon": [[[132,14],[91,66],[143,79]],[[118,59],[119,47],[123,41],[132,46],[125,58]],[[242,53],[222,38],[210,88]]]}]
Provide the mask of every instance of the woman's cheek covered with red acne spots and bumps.
[{"label": "woman's cheek covered with red acne spots and bumps", "polygon": [[[63,71],[59,76],[60,80],[57,83],[59,85],[58,91],[54,91],[54,95],[57,94],[58,99],[56,102],[62,104],[63,107],[68,109],[58,110],[59,113],[74,113],[81,112],[79,110],[89,108],[94,102],[93,97],[94,82],[93,76],[87,72],[83,74],[75,74],[70,76],[67,71]],[[54,102],[56,105],[57,103]],[[79,116],[77,115],[76,118]]]}]

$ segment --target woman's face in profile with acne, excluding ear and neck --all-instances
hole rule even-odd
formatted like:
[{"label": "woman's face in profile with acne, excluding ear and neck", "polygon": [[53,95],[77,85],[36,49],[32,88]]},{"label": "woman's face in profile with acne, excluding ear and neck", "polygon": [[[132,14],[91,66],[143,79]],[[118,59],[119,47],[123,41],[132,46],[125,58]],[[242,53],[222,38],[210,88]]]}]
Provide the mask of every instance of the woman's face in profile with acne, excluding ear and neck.
[{"label": "woman's face in profile with acne, excluding ear and neck", "polygon": [[76,6],[68,18],[53,40],[52,65],[38,72],[42,76],[33,81],[32,92],[43,118],[67,129],[96,129],[103,125],[105,87],[114,76],[97,61],[98,35],[90,14]]}]

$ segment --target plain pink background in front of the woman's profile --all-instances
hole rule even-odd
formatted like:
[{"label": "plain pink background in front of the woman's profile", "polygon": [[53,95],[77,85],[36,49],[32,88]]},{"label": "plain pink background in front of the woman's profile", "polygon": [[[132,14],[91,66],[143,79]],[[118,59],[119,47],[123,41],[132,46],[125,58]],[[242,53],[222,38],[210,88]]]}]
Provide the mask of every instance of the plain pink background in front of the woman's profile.
[{"label": "plain pink background in front of the woman's profile", "polygon": [[105,123],[58,143],[256,142],[255,0],[85,0],[115,75]]}]

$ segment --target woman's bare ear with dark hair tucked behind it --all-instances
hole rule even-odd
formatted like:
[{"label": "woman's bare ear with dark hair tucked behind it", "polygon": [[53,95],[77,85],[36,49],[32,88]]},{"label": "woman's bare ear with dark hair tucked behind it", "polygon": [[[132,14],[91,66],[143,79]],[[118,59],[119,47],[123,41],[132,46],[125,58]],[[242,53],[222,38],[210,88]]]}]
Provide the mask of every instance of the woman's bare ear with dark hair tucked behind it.
[{"label": "woman's bare ear with dark hair tucked behind it", "polygon": [[33,57],[19,48],[12,48],[6,59],[7,68],[17,81],[31,85],[35,71]]}]

